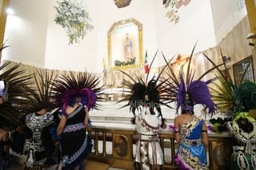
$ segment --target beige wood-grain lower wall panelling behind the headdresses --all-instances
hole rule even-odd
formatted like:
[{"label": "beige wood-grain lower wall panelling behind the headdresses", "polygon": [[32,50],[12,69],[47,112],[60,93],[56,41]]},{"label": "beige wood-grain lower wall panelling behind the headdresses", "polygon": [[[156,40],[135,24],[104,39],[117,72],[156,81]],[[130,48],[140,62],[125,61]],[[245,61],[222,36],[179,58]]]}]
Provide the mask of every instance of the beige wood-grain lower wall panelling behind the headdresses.
[{"label": "beige wood-grain lower wall panelling behind the headdresses", "polygon": [[[228,62],[227,65],[230,65],[230,74],[231,74],[231,77],[234,77],[232,65],[238,61],[241,61],[242,58],[244,57],[249,57],[252,53],[252,47],[248,45],[249,40],[245,38],[249,30],[250,28],[249,28],[248,19],[245,17],[238,24],[238,26],[234,26],[234,29],[226,36],[226,38],[223,38],[222,42],[220,42],[218,45],[216,45],[213,48],[206,49],[202,52],[194,53],[194,57],[193,57],[193,60],[191,61],[191,65],[193,65],[194,70],[197,70],[195,74],[195,78],[198,78],[199,75],[201,75],[202,73],[205,73],[208,69],[211,69],[214,66],[210,64],[210,62],[207,61],[205,57],[202,56],[202,53],[205,53],[208,57],[211,58],[212,61],[214,61],[216,65],[218,65],[222,63],[221,51],[223,55],[231,58],[230,62]],[[13,63],[17,64],[16,62],[13,62]],[[28,74],[34,73],[34,70],[38,69],[36,66],[24,65],[24,64],[21,64],[21,65],[22,66],[20,68],[23,70],[26,70]],[[174,66],[172,68],[174,69],[174,71],[176,70],[176,73],[178,74],[179,67]],[[152,68],[150,72],[150,76],[153,76],[156,73],[160,73],[162,69],[163,69],[163,66]],[[58,73],[66,73],[65,70],[55,70],[55,71],[58,71]],[[125,72],[133,78],[136,75],[138,75],[138,77],[146,77],[144,68],[129,69],[129,70],[125,70]],[[168,68],[166,68],[165,72],[168,72]],[[216,74],[213,71],[204,78],[205,80],[207,80],[215,76]],[[103,73],[98,73],[98,77],[102,77],[102,85],[104,85],[105,89],[114,89],[114,88],[122,87],[123,79],[131,81],[128,76],[124,75],[118,70],[110,71],[105,69],[103,70]],[[162,77],[167,77],[166,73],[163,73]],[[112,100],[118,101],[119,97],[122,96],[122,94],[120,93],[110,94],[108,96],[110,97],[109,98],[110,101]]]}]

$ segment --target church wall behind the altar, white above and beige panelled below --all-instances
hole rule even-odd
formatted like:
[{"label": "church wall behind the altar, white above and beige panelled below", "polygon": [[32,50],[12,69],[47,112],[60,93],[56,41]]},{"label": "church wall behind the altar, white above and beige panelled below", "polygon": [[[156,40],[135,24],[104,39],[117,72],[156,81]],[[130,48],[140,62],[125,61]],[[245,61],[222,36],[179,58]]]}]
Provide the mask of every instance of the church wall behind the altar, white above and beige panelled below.
[{"label": "church wall behind the altar, white above and beige panelled below", "polygon": [[[58,5],[57,2],[26,2],[10,0],[10,6],[14,7],[17,15],[7,17],[5,39],[8,39],[10,48],[2,53],[2,59],[21,62],[26,70],[36,67],[59,72],[90,71],[103,77],[102,85],[106,85],[106,88],[121,87],[122,79],[128,77],[118,70],[104,69],[102,60],[108,60],[107,31],[114,22],[127,18],[135,18],[142,23],[143,57],[147,51],[150,62],[158,50],[151,76],[159,73],[162,65],[166,64],[162,53],[167,59],[179,53],[189,56],[196,42],[195,57],[191,62],[198,75],[213,66],[202,57],[202,53],[206,53],[217,64],[222,62],[222,50],[231,59],[228,65],[252,53],[252,47],[246,39],[250,33],[248,18],[244,16],[245,8],[239,8],[237,2],[229,1],[220,6],[220,2],[191,1],[178,10],[180,20],[175,24],[165,17],[168,9],[155,1],[132,1],[130,6],[123,9],[110,1],[83,1],[94,29],[83,40],[72,45],[68,44],[63,28],[54,22],[54,6]],[[230,6],[226,10],[228,14],[225,13],[225,6]],[[144,67],[125,71],[129,75],[145,75]],[[233,73],[231,66],[230,73]],[[208,74],[206,78],[210,77],[214,77],[214,73]]]}]

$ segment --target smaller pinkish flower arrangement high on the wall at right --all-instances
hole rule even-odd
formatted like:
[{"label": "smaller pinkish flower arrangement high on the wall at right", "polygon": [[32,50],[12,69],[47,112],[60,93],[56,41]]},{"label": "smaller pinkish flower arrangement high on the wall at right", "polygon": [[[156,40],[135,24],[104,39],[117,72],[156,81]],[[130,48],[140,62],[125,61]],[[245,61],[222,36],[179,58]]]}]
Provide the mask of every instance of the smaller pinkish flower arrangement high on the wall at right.
[{"label": "smaller pinkish flower arrangement high on the wall at right", "polygon": [[166,17],[169,18],[170,22],[177,24],[179,21],[178,9],[181,6],[186,6],[190,3],[190,0],[163,0],[162,5],[165,8],[170,7],[170,10],[166,13]]}]

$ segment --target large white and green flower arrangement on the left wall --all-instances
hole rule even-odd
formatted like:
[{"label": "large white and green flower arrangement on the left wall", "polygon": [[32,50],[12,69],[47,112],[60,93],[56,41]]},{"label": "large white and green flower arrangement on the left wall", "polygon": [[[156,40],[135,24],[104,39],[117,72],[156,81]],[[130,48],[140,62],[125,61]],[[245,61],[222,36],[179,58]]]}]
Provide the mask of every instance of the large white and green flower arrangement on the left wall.
[{"label": "large white and green flower arrangement on the left wall", "polygon": [[63,0],[54,8],[57,10],[54,22],[66,30],[70,38],[69,44],[77,43],[79,38],[83,39],[84,35],[94,28],[90,25],[90,15],[83,8],[81,1]]}]

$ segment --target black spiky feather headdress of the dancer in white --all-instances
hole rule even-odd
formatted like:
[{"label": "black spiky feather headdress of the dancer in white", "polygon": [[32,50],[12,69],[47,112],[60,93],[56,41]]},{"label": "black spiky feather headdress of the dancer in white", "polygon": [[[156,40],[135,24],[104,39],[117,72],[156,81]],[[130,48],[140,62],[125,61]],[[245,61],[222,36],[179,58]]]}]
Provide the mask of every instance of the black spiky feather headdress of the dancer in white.
[{"label": "black spiky feather headdress of the dancer in white", "polygon": [[[153,61],[156,55],[157,53],[155,53]],[[152,66],[153,61],[150,63],[150,68]],[[125,92],[129,93],[129,95],[127,95],[121,100],[128,101],[128,104],[122,106],[122,108],[130,106],[130,112],[132,112],[135,115],[135,111],[141,109],[140,106],[147,105],[150,107],[150,111],[156,109],[158,111],[158,116],[162,117],[162,111],[160,106],[166,105],[167,107],[171,108],[168,105],[168,102],[166,102],[169,100],[168,96],[166,95],[166,87],[164,86],[166,79],[161,78],[161,74],[163,73],[164,69],[162,69],[158,76],[154,76],[150,80],[148,80],[148,73],[146,76],[146,81],[142,77],[139,77],[137,75],[136,78],[134,79],[128,73],[125,73],[124,71],[120,70],[122,73],[124,73],[127,77],[130,78],[130,81],[123,81],[124,88],[128,89]],[[148,97],[148,99],[145,98],[146,96]],[[163,121],[164,119],[162,118],[162,123]]]}]

